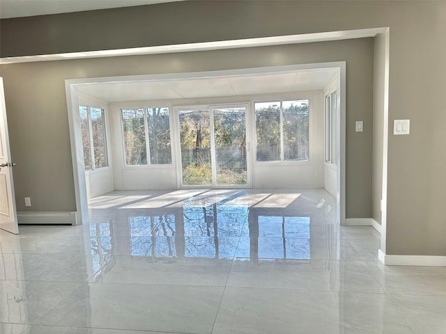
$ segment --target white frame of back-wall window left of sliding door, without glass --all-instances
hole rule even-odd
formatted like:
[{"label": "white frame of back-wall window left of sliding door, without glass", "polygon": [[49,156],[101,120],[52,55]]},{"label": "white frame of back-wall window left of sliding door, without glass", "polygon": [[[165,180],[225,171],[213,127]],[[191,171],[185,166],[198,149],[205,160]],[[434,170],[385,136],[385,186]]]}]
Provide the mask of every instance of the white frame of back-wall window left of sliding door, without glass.
[{"label": "white frame of back-wall window left of sliding door, without glass", "polygon": [[[169,116],[169,145],[170,145],[170,163],[169,164],[151,164],[151,151],[150,151],[150,141],[148,134],[148,109],[167,109],[167,113]],[[142,110],[144,112],[144,140],[146,142],[146,164],[138,164],[138,165],[130,165],[127,163],[126,159],[126,150],[125,150],[125,138],[124,138],[124,123],[123,123],[123,110]],[[162,166],[172,166],[173,165],[173,152],[172,152],[172,107],[170,104],[160,104],[160,105],[145,105],[145,106],[119,106],[119,118],[121,124],[121,143],[123,145],[123,166],[130,168],[141,168],[141,167],[150,167],[150,168],[160,168]]]}]

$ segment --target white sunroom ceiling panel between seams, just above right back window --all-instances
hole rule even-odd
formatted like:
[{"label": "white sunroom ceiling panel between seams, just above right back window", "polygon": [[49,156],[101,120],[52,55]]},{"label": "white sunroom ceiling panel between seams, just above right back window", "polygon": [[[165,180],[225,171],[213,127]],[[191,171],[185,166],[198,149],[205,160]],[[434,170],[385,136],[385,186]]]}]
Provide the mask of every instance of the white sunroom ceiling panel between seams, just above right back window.
[{"label": "white sunroom ceiling panel between seams, just above right back window", "polygon": [[266,74],[229,79],[237,95],[292,92],[296,73]]}]

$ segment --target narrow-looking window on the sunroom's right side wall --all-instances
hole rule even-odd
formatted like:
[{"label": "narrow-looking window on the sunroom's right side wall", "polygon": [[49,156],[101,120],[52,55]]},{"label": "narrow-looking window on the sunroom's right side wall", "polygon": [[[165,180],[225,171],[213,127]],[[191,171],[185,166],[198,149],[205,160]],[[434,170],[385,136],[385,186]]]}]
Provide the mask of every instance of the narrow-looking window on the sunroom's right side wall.
[{"label": "narrow-looking window on the sunroom's right side wall", "polygon": [[325,161],[336,165],[336,91],[325,95]]}]

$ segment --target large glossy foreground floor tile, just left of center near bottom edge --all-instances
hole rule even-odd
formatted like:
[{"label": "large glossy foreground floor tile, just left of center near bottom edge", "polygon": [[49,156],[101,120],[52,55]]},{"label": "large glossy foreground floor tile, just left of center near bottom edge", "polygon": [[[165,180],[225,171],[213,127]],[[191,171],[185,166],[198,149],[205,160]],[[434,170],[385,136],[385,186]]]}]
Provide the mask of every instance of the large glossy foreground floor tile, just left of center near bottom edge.
[{"label": "large glossy foreground floor tile, just left of center near bottom edge", "polygon": [[222,287],[83,284],[40,324],[210,333],[222,294]]}]

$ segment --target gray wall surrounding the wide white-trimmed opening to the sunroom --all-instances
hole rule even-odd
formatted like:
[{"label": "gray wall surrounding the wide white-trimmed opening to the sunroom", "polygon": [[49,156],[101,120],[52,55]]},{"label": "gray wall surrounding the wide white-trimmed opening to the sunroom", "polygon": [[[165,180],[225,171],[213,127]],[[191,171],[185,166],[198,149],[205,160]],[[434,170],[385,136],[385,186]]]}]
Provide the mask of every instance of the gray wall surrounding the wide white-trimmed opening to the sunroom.
[{"label": "gray wall surrounding the wide white-trimmed opening to the sunroom", "polygon": [[[3,65],[1,75],[11,129],[11,151],[17,163],[17,210],[75,210],[65,79],[346,61],[347,90],[352,92],[346,101],[346,109],[352,111],[347,117],[347,137],[355,137],[351,140],[354,144],[346,148],[351,159],[351,173],[346,182],[346,211],[351,217],[369,217],[373,45],[373,38],[362,38],[183,54]],[[280,62],[277,62],[277,55],[280,55]],[[360,135],[354,132],[358,118],[363,119],[368,128]],[[29,157],[33,157],[32,160]],[[33,207],[24,207],[24,196],[33,198]]]}]

